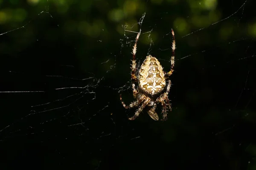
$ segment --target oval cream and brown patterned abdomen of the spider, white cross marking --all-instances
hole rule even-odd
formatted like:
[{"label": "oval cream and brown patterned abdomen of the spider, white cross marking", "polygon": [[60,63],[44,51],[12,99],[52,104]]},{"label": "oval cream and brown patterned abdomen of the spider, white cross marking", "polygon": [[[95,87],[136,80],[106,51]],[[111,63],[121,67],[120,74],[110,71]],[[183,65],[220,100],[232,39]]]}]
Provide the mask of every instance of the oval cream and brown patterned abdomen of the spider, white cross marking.
[{"label": "oval cream and brown patterned abdomen of the spider, white cross marking", "polygon": [[139,71],[139,88],[152,96],[163,91],[166,85],[163,67],[151,55],[147,56]]}]

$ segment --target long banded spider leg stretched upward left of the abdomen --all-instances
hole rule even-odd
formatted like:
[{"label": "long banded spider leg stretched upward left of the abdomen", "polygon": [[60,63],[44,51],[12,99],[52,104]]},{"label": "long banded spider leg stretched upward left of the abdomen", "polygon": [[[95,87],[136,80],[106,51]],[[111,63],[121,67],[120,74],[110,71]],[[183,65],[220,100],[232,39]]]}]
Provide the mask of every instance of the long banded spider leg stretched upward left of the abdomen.
[{"label": "long banded spider leg stretched upward left of the abdomen", "polygon": [[134,44],[134,48],[132,50],[132,64],[131,64],[131,81],[132,81],[132,89],[133,89],[133,96],[134,99],[136,99],[138,91],[135,88],[135,82],[138,81],[135,72],[136,72],[136,50],[137,50],[137,42],[139,40],[140,37],[140,32],[137,34],[136,40],[135,40],[135,44]]}]

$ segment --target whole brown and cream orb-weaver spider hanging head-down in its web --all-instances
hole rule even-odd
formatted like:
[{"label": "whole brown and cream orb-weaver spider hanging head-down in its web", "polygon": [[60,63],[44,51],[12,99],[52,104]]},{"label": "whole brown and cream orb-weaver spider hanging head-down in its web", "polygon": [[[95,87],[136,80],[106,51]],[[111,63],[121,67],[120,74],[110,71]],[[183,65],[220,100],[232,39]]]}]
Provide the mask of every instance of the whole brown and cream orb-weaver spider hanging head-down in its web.
[{"label": "whole brown and cream orb-weaver spider hanging head-down in its web", "polygon": [[[149,116],[154,120],[159,120],[159,117],[155,111],[157,104],[161,103],[162,105],[162,113],[163,119],[167,119],[167,109],[168,106],[169,110],[171,111],[171,105],[169,103],[168,94],[171,88],[171,80],[169,76],[172,75],[174,71],[174,57],[175,57],[175,36],[174,31],[172,30],[172,57],[171,57],[171,71],[166,73],[163,71],[163,67],[158,61],[157,58],[148,55],[145,60],[143,61],[142,65],[140,66],[140,71],[138,73],[138,78],[135,75],[136,72],[136,50],[137,50],[137,42],[140,37],[140,32],[137,34],[134,48],[132,51],[133,59],[131,64],[131,80],[132,80],[132,89],[133,89],[133,96],[136,99],[135,102],[132,102],[130,105],[125,105],[122,101],[122,96],[120,94],[120,100],[124,108],[134,108],[139,107],[136,111],[135,115],[130,117],[129,120],[134,120],[139,116],[139,114],[145,110],[149,114]],[[138,88],[135,86],[135,82],[138,82]],[[166,87],[166,91],[163,92],[163,89]]]}]

